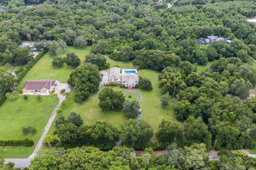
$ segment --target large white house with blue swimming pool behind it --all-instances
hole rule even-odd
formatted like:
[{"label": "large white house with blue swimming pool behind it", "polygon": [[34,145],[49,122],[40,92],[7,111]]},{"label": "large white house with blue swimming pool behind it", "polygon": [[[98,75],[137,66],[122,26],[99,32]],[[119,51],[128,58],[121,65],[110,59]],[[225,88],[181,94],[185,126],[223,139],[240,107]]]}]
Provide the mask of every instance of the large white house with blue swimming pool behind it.
[{"label": "large white house with blue swimming pool behind it", "polygon": [[137,69],[121,69],[112,67],[109,73],[108,83],[115,82],[124,84],[126,87],[132,88],[139,83],[139,74]]}]

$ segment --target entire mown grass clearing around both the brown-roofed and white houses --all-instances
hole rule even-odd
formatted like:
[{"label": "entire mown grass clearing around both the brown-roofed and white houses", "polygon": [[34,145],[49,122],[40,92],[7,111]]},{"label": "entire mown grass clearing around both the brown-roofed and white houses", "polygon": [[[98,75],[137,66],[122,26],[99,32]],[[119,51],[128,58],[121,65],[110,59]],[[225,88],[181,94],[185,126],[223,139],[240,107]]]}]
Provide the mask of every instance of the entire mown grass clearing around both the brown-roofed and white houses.
[{"label": "entire mown grass clearing around both the brown-roofed and white houses", "polygon": [[[86,48],[74,48],[68,47],[64,52],[58,52],[57,56],[65,57],[66,52],[74,51],[81,61],[84,61],[85,55],[90,53],[90,47]],[[46,53],[41,60],[39,60],[33,68],[25,75],[18,89],[23,87],[23,83],[31,79],[57,79],[62,82],[66,82],[69,78],[69,73],[71,69],[64,65],[61,68],[54,68],[51,66],[52,59],[54,57]],[[121,68],[132,69],[132,62],[116,62],[111,60],[106,56],[107,62],[110,66],[119,65]],[[142,94],[142,100],[140,106],[143,112],[142,120],[149,123],[154,132],[158,129],[158,124],[162,119],[169,120],[175,123],[179,123],[175,116],[173,115],[173,110],[171,106],[166,109],[161,108],[161,90],[158,88],[158,72],[152,70],[139,70],[139,74],[142,77],[149,78],[153,83],[152,91],[143,91],[137,89]],[[114,87],[115,90],[125,90],[119,87]],[[131,95],[132,98],[128,98]],[[137,99],[135,94],[126,94],[127,100]],[[57,105],[58,100],[52,96],[42,97],[41,101],[38,101],[35,96],[28,96],[27,101],[23,100],[22,96],[19,96],[15,101],[6,100],[4,104],[0,107],[0,113],[4,113],[4,119],[0,120],[0,139],[1,137],[7,137],[8,139],[23,139],[26,136],[22,134],[21,128],[26,125],[33,125],[37,129],[37,133],[34,135],[28,135],[29,139],[37,141],[42,134],[44,127],[49,120],[49,117]],[[71,91],[69,94],[69,100],[67,105],[63,108],[61,115],[65,117],[68,116],[70,112],[76,112],[81,114],[84,123],[93,124],[97,121],[106,121],[117,128],[127,120],[124,113],[119,111],[111,111],[103,113],[98,106],[99,99],[98,93],[92,94],[89,99],[87,99],[83,104],[75,103],[74,92]],[[11,109],[9,109],[11,108]],[[43,113],[37,114],[37,113]],[[32,115],[32,116],[31,116]],[[2,116],[2,115],[1,115]],[[58,117],[58,116],[57,116]],[[3,126],[2,126],[3,124]],[[179,123],[181,124],[181,123]],[[54,131],[54,124],[51,127],[49,133]],[[153,138],[155,140],[155,137]],[[8,149],[9,148],[9,149]],[[8,147],[6,152],[0,152],[0,156],[3,154],[4,157],[17,157],[23,158],[27,157],[33,152],[34,147]],[[15,149],[15,150],[14,150]]]}]

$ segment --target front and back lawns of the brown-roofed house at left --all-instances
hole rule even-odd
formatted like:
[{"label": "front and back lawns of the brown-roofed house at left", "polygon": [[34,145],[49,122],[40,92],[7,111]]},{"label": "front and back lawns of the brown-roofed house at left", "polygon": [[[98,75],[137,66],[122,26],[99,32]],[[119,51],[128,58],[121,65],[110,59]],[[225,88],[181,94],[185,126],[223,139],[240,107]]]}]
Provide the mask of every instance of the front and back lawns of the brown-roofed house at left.
[{"label": "front and back lawns of the brown-roofed house at left", "polygon": [[[58,57],[65,57],[68,51],[74,51],[81,61],[85,59],[85,55],[89,54],[90,47],[74,48],[68,47],[65,52],[57,52]],[[18,90],[23,88],[23,84],[27,80],[43,80],[56,79],[66,82],[69,74],[72,71],[67,65],[61,68],[52,67],[54,57],[46,53],[25,75],[21,83],[18,85]],[[2,66],[4,68],[4,66]],[[13,68],[17,69],[19,66]],[[49,118],[58,104],[58,99],[52,96],[43,96],[41,100],[37,100],[35,96],[28,96],[25,101],[23,96],[19,96],[15,101],[6,99],[0,106],[0,140],[11,139],[32,139],[35,142],[39,140],[41,134],[49,121]],[[22,127],[32,125],[37,129],[34,135],[23,135]],[[13,146],[7,147],[7,151],[0,150],[0,157],[5,158],[25,158],[28,157],[34,150],[34,147]]]}]

